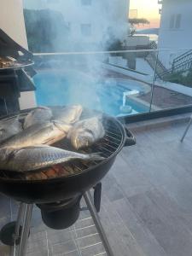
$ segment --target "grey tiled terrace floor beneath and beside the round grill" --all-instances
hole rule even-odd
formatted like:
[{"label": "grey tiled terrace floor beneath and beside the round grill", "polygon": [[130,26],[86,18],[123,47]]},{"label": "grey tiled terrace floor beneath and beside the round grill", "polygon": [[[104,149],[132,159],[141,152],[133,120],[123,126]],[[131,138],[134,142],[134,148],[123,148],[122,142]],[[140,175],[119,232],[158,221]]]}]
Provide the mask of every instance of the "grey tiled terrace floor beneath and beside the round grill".
[{"label": "grey tiled terrace floor beneath and beside the round grill", "polygon": [[[192,256],[192,126],[137,131],[102,181],[100,216],[116,256]],[[16,218],[17,204],[0,196],[0,226]],[[0,244],[0,256],[10,248]],[[50,230],[38,208],[27,256],[106,255],[88,211],[67,230]]]}]

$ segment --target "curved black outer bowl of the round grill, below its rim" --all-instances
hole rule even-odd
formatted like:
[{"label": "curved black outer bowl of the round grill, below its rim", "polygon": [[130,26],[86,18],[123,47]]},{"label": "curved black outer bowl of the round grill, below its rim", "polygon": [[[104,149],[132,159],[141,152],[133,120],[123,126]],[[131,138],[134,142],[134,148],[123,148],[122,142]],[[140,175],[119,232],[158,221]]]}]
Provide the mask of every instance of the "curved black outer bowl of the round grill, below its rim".
[{"label": "curved black outer bowl of the round grill, below its rim", "polygon": [[94,187],[106,175],[113,165],[115,156],[102,163],[87,169],[81,174],[72,177],[59,177],[43,181],[16,181],[0,179],[0,191],[25,203],[49,203],[62,201],[81,195],[84,191]]}]

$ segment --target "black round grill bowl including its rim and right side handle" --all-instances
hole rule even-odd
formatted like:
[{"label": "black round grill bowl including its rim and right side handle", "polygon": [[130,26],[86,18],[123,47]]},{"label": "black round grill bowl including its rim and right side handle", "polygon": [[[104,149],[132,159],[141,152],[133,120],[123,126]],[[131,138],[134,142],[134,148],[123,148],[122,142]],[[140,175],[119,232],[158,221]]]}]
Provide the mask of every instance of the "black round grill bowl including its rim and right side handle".
[{"label": "black round grill bowl including its rim and right side handle", "polygon": [[0,171],[0,192],[14,198],[16,201],[25,203],[44,204],[55,201],[64,201],[74,196],[82,195],[86,190],[94,187],[104,177],[125,146],[135,144],[135,138],[130,131],[118,119],[105,117],[107,123],[119,134],[119,144],[112,154],[95,166],[90,166],[83,172],[68,177],[56,177],[44,180],[21,180],[1,176]]}]

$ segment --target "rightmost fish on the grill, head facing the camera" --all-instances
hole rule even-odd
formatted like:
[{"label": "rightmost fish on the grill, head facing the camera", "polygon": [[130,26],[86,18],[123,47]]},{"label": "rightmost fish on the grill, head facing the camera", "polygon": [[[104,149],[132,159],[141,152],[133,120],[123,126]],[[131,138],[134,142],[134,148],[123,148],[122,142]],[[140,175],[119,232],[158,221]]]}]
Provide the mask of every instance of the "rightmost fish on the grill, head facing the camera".
[{"label": "rightmost fish on the grill, head facing the camera", "polygon": [[84,119],[73,125],[67,137],[74,148],[86,148],[104,137],[105,130],[100,117]]}]

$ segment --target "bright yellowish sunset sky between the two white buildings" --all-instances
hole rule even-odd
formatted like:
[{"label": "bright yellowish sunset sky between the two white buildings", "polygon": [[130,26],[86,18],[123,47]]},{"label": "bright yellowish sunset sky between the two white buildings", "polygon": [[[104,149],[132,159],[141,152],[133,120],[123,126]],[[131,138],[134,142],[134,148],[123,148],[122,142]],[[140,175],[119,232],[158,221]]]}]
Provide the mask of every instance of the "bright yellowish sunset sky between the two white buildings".
[{"label": "bright yellowish sunset sky between the two white buildings", "polygon": [[[158,0],[130,0],[130,9],[137,9],[137,18],[146,18],[150,21],[150,25],[144,27],[159,27],[160,26],[160,15],[159,9],[160,4]],[[140,28],[143,28],[141,25]]]}]

